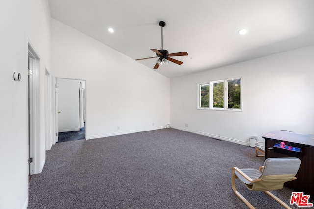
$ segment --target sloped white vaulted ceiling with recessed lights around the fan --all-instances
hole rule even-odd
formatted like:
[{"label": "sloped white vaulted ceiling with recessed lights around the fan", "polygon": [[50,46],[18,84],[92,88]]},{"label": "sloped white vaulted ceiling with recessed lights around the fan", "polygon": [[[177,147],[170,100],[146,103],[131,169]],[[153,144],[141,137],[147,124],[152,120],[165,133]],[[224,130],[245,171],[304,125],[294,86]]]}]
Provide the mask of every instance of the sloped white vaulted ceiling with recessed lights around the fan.
[{"label": "sloped white vaulted ceiling with recessed lights around the fan", "polygon": [[[174,78],[314,44],[314,0],[49,0],[53,18],[131,57],[188,52]],[[112,27],[114,33],[108,28]],[[244,36],[237,32],[246,28]],[[157,58],[138,61],[153,70]]]}]

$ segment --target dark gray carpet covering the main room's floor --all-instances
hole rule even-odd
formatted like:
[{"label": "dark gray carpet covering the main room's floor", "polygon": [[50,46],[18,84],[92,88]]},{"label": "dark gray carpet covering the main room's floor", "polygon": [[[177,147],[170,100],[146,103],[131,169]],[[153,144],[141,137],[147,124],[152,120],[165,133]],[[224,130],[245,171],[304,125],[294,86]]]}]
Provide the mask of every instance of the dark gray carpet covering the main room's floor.
[{"label": "dark gray carpet covering the main room's floor", "polygon": [[[28,209],[242,209],[230,169],[263,161],[251,147],[175,129],[57,143],[31,178]],[[236,186],[257,209],[282,208]],[[289,204],[291,192],[273,193]]]}]

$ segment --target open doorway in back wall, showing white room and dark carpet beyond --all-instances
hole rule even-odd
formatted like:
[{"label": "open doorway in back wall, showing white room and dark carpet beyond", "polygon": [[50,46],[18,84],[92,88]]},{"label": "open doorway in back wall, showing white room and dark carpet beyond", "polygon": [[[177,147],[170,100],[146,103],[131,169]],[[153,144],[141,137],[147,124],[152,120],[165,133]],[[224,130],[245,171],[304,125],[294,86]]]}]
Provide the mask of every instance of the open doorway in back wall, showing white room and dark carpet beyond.
[{"label": "open doorway in back wall, showing white room and dark carpet beyond", "polygon": [[86,80],[55,78],[56,142],[86,139]]}]

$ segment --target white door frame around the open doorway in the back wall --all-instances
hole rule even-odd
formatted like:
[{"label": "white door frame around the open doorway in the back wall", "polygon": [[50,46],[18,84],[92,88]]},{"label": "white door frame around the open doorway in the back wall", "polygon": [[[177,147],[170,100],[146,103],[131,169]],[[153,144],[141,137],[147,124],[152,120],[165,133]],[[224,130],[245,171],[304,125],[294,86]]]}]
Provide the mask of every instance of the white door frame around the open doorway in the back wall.
[{"label": "white door frame around the open doorway in the back wall", "polygon": [[54,115],[54,117],[53,117],[53,132],[54,132],[54,139],[53,139],[53,144],[55,144],[55,143],[57,143],[57,140],[58,140],[58,132],[59,132],[59,130],[58,130],[58,123],[59,123],[59,121],[58,121],[58,104],[57,104],[57,102],[58,102],[58,95],[57,95],[57,92],[58,92],[58,90],[57,90],[57,87],[56,87],[56,85],[57,85],[57,79],[69,79],[69,80],[81,80],[81,81],[85,81],[85,140],[87,140],[87,127],[88,127],[88,125],[86,125],[86,124],[88,124],[87,123],[87,79],[84,79],[84,78],[67,78],[67,77],[53,77],[53,115]]}]

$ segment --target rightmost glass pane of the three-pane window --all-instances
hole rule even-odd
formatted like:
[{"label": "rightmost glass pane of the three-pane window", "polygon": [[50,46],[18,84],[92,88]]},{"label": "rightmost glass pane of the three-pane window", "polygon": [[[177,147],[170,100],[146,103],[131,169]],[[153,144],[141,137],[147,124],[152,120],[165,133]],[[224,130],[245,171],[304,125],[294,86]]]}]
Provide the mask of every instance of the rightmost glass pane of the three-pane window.
[{"label": "rightmost glass pane of the three-pane window", "polygon": [[228,107],[241,108],[241,79],[229,80],[228,82]]}]

